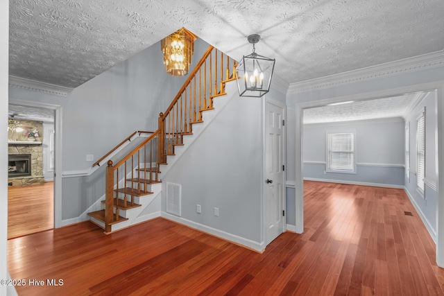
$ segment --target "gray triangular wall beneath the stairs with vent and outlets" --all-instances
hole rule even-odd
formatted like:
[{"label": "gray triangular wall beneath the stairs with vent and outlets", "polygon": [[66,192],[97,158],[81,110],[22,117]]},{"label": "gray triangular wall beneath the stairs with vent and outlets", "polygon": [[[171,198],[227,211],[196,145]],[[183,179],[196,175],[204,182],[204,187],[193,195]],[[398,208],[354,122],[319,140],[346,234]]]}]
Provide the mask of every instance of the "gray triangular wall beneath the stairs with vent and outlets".
[{"label": "gray triangular wall beneath the stairs with vent and outlets", "polygon": [[[182,218],[260,243],[262,146],[262,100],[235,94],[162,175],[162,192],[167,182],[181,184]],[[196,213],[196,204],[201,205],[201,214]],[[219,208],[219,217],[214,216],[214,207]]]}]

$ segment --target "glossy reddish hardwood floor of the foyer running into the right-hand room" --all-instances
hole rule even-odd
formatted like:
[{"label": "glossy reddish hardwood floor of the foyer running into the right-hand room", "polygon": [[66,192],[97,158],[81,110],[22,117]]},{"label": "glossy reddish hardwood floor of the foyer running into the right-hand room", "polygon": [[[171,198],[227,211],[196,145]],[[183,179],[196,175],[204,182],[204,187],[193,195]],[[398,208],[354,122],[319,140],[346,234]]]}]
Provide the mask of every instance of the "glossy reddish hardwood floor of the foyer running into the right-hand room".
[{"label": "glossy reddish hardwood floor of the foyer running into the right-hand room", "polygon": [[8,269],[26,279],[19,295],[443,294],[435,245],[404,191],[304,184],[304,234],[263,254],[157,218],[108,236],[80,223],[11,239]]}]

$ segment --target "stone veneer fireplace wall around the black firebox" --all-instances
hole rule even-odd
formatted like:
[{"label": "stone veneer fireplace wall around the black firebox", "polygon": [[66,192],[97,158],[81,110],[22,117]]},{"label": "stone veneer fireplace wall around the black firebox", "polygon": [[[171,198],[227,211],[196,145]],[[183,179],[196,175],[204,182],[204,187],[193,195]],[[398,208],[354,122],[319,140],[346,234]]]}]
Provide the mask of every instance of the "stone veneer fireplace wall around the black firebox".
[{"label": "stone veneer fireplace wall around the black firebox", "polygon": [[[24,131],[17,132],[17,128]],[[33,137],[26,136],[26,131],[37,131],[39,137],[35,137],[35,141],[43,140],[43,123],[42,121],[30,121],[22,119],[9,119],[8,121],[8,141],[30,141]],[[12,182],[12,186],[25,186],[32,184],[43,184],[43,146],[42,144],[15,144],[9,143],[8,154],[20,155],[31,154],[31,176],[10,177],[8,182]]]}]

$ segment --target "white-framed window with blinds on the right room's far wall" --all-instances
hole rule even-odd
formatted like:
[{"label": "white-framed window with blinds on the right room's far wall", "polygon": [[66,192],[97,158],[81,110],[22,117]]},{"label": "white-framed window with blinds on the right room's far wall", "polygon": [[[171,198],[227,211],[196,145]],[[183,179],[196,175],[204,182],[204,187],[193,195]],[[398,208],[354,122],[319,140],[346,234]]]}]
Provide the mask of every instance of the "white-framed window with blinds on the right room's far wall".
[{"label": "white-framed window with blinds on the right room's far wall", "polygon": [[327,132],[327,172],[356,173],[355,132]]}]

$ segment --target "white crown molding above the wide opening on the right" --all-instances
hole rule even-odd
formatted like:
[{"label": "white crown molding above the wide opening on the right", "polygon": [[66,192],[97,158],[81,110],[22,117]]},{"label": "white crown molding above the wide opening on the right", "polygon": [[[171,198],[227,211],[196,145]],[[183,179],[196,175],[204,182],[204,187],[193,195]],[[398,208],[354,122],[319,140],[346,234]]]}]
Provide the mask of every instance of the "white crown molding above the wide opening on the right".
[{"label": "white crown molding above the wide opening on the right", "polygon": [[395,76],[400,73],[411,73],[443,66],[444,51],[435,51],[434,53],[417,55],[413,58],[406,58],[321,78],[291,83],[287,95],[327,89],[339,85],[348,85],[353,82],[363,82],[375,78],[384,78]]}]

